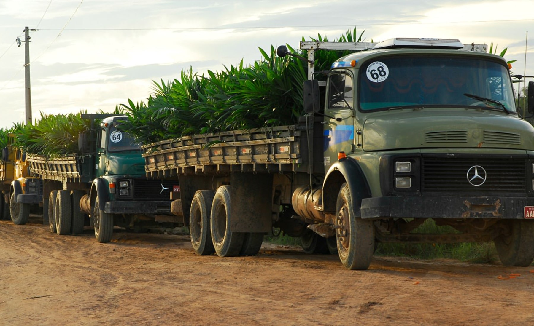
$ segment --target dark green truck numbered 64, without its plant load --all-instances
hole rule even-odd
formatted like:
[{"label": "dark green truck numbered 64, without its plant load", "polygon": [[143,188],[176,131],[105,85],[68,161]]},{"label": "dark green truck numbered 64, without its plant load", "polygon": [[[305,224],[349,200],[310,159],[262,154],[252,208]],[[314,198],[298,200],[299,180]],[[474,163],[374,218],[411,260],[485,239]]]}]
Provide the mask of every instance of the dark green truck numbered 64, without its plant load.
[{"label": "dark green truck numbered 64, without its plant load", "polygon": [[[183,225],[170,213],[172,181],[147,180],[144,158],[128,133],[126,117],[82,114],[91,130],[80,134],[81,154],[28,155],[29,170],[43,180],[43,206],[52,233],[80,234],[93,226],[98,242],[109,242],[114,226],[140,229]],[[95,121],[100,121],[95,128]]]}]

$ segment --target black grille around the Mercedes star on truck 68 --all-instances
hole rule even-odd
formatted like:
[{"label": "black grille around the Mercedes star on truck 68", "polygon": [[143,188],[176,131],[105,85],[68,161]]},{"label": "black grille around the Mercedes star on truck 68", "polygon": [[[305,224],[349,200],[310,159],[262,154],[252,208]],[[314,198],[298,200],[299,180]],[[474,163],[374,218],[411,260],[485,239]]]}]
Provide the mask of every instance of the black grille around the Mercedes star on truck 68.
[{"label": "black grille around the Mercedes star on truck 68", "polygon": [[[527,157],[499,155],[422,157],[422,192],[454,192],[456,194],[498,195],[527,193]],[[467,180],[472,166],[482,166],[486,180],[473,186]]]}]

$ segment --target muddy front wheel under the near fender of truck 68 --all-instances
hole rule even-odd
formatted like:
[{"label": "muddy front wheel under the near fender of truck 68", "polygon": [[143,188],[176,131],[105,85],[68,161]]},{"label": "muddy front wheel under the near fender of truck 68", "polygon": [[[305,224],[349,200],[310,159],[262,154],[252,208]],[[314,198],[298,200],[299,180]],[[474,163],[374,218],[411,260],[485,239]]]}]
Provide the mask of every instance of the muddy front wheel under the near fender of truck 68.
[{"label": "muddy front wheel under the near fender of truck 68", "polygon": [[341,186],[336,203],[337,253],[347,269],[367,269],[374,251],[374,225],[372,220],[354,216],[349,186]]}]

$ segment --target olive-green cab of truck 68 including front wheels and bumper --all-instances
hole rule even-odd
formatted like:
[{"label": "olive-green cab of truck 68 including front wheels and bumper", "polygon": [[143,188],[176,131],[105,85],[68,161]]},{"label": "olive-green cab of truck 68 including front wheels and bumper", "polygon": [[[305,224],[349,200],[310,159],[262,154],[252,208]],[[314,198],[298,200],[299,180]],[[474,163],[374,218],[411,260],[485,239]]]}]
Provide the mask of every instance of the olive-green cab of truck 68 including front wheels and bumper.
[{"label": "olive-green cab of truck 68 including front wheels and bumper", "polygon": [[[505,265],[532,262],[534,129],[517,115],[507,62],[483,52],[392,39],[335,61],[324,107],[306,82],[305,107],[324,116],[317,208],[345,267],[401,241],[493,241]],[[412,232],[428,218],[460,234]]]}]

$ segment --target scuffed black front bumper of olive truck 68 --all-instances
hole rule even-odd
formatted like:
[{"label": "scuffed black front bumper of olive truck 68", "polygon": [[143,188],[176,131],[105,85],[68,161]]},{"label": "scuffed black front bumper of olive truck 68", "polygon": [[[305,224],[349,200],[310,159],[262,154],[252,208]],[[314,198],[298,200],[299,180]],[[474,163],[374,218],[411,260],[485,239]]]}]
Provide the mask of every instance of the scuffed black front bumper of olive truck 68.
[{"label": "scuffed black front bumper of olive truck 68", "polygon": [[362,200],[362,218],[524,219],[529,197],[388,196]]}]

